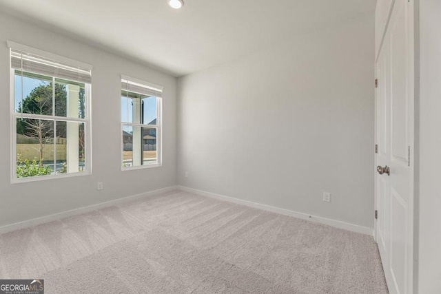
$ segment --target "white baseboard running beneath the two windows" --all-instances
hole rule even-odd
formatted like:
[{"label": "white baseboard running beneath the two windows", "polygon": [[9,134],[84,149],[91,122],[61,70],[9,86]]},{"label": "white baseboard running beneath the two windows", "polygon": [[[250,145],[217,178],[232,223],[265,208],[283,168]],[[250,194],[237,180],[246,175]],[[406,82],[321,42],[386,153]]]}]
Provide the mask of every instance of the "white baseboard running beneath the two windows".
[{"label": "white baseboard running beneath the two windows", "polygon": [[150,197],[150,196],[157,195],[159,193],[164,193],[164,192],[173,191],[173,190],[177,190],[177,189],[178,189],[178,186],[171,186],[171,187],[157,189],[157,190],[146,192],[146,193],[141,193],[141,194],[137,194],[137,195],[133,195],[133,196],[127,196],[124,198],[110,200],[110,201],[106,201],[106,202],[102,202],[102,203],[98,203],[98,204],[93,204],[88,207],[81,207],[81,208],[72,209],[69,211],[54,213],[49,216],[42,216],[41,218],[33,218],[32,220],[24,220],[23,222],[16,222],[14,224],[6,224],[5,226],[0,227],[0,234],[8,233],[10,231],[17,231],[19,229],[26,229],[29,227],[34,227],[39,224],[44,224],[46,222],[52,222],[54,220],[61,220],[62,218],[68,218],[69,216],[76,216],[81,213],[96,211],[98,209],[102,209],[105,207],[111,207],[114,205],[123,204],[125,202],[138,200],[138,199],[145,198],[145,197]]}]

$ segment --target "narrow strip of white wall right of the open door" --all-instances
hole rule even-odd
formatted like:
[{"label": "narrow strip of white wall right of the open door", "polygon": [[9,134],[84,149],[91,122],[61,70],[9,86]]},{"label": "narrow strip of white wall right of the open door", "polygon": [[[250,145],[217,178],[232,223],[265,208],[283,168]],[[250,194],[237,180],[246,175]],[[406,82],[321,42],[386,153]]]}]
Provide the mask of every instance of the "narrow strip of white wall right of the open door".
[{"label": "narrow strip of white wall right of the open door", "polygon": [[[420,0],[419,292],[441,293],[441,1]],[[417,192],[418,193],[418,192]]]}]

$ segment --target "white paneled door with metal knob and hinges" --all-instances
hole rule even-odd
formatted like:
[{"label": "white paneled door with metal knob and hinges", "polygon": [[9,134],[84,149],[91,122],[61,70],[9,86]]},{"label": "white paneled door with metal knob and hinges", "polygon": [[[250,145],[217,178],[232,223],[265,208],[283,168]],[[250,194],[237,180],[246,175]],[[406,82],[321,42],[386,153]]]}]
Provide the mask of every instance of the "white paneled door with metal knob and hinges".
[{"label": "white paneled door with metal knob and hinges", "polygon": [[396,0],[376,59],[376,241],[391,294],[413,290],[413,71],[413,0]]}]

